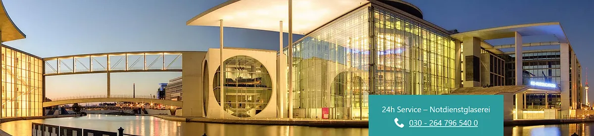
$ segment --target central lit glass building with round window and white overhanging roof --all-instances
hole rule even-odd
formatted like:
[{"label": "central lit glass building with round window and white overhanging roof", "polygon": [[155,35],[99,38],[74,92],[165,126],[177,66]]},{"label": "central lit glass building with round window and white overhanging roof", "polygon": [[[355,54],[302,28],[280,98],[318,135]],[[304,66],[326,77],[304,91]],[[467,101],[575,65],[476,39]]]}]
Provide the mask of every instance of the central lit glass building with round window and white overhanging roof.
[{"label": "central lit glass building with round window and white overhanging roof", "polygon": [[[223,19],[222,21],[222,23],[229,23],[224,25],[226,27],[273,31],[284,28],[286,20],[275,20],[273,18],[267,20],[268,18],[264,18],[264,15],[260,16],[257,12],[252,12],[261,11],[272,14],[272,11],[263,11],[264,7],[282,9],[282,6],[285,6],[283,9],[286,9],[286,1],[258,1],[258,5],[251,3],[250,1],[225,2],[192,18],[192,20],[188,21],[188,25],[219,26],[220,19],[223,18],[217,17],[224,17],[229,20],[224,21],[225,19]],[[308,5],[311,7],[308,7]],[[320,9],[318,5],[324,5],[325,8]],[[361,0],[317,1],[315,3],[295,1],[294,6],[295,24],[311,24],[309,26],[299,25],[293,27],[297,34],[305,35],[292,45],[293,58],[290,64],[292,64],[293,72],[290,74],[292,74],[293,78],[290,81],[293,83],[293,97],[290,97],[290,102],[287,103],[293,103],[293,108],[290,110],[293,110],[292,116],[295,118],[366,120],[369,117],[369,95],[444,94],[449,93],[451,88],[456,87],[453,75],[457,73],[454,68],[457,64],[455,61],[456,50],[459,47],[456,48],[455,39],[450,37],[451,33],[449,31],[423,20],[421,10],[414,5],[404,1]],[[274,10],[276,8],[270,9]],[[323,14],[307,14],[307,12],[317,10],[323,10],[321,11]],[[262,20],[276,22],[277,24],[257,26],[247,21],[247,18],[244,19],[236,15],[242,12],[250,15],[254,14],[252,16],[258,17],[258,20],[262,18]],[[282,11],[280,12],[282,13]],[[287,15],[286,12],[284,13],[278,16]],[[314,21],[301,18],[302,15],[306,14],[312,15],[308,18],[317,19]],[[267,16],[276,17],[276,14]],[[242,23],[240,24],[239,21],[242,21]],[[279,21],[283,21],[280,23],[283,24],[280,27],[278,26]],[[285,53],[281,54],[287,54],[288,48],[283,50]],[[210,54],[211,50],[208,53]],[[223,53],[223,55],[228,56],[228,53]],[[229,57],[233,56],[235,55],[229,55]],[[252,56],[251,58],[255,57]],[[277,57],[274,55],[268,59],[255,58],[251,62],[274,61],[270,60],[272,58]],[[225,64],[227,64],[227,61],[234,62],[233,60],[249,59],[226,58],[225,60]],[[208,65],[213,65],[213,61],[208,61]],[[216,64],[214,65],[216,66]],[[276,67],[278,66],[273,65],[265,68],[268,69],[268,72],[271,72],[270,69]],[[230,69],[230,71],[235,70]],[[269,75],[273,79],[278,77],[274,74]],[[263,106],[264,113],[268,108],[283,110],[284,107],[287,107],[285,102],[280,100],[286,97],[285,94],[276,93],[277,90],[285,91],[286,88],[276,88],[274,81],[277,80],[272,80],[272,86],[268,86],[265,82],[265,79],[268,78],[264,77],[256,76],[256,78],[253,78],[250,75],[239,78],[231,73],[226,76],[232,78],[225,78],[225,89],[229,89],[223,95],[226,96],[223,103],[229,103],[229,105],[225,104],[225,109],[227,109],[225,110],[226,113],[223,113],[225,116],[230,114],[245,117],[236,114],[238,110],[235,107],[243,108],[238,103],[244,102],[247,102],[250,107],[252,107],[249,105],[250,103],[254,103],[253,105],[256,105],[256,107]],[[217,75],[214,75],[214,77],[217,77]],[[242,90],[248,89],[249,91],[252,85],[235,84],[233,86],[234,84],[227,83],[236,83],[244,78],[250,81],[255,79],[256,82],[261,80],[262,87],[254,86],[261,89],[270,87],[271,93],[261,90],[263,93],[256,93],[256,96],[264,97],[250,100],[249,95],[251,93],[241,93],[239,95],[236,93],[237,88],[235,87],[240,87]],[[216,79],[214,78],[214,80]],[[218,81],[214,82],[217,83]],[[208,85],[210,86],[210,84]],[[260,92],[260,90],[255,90],[255,92]],[[270,97],[270,100],[266,100],[268,94],[277,97]],[[209,95],[219,97],[220,93],[215,88],[213,93]],[[214,101],[209,100],[208,102]],[[213,118],[220,116],[220,114],[211,113],[210,110],[212,107],[218,108],[219,105],[222,105],[219,99],[217,99],[217,103],[219,103],[217,106],[207,104],[209,110],[207,110],[206,116],[213,116]],[[270,107],[270,103],[277,106]],[[242,111],[244,110],[242,109]],[[284,115],[286,112],[283,112],[280,113],[281,115],[262,117],[286,117],[287,115]],[[251,116],[259,115],[256,112],[255,115]]]}]

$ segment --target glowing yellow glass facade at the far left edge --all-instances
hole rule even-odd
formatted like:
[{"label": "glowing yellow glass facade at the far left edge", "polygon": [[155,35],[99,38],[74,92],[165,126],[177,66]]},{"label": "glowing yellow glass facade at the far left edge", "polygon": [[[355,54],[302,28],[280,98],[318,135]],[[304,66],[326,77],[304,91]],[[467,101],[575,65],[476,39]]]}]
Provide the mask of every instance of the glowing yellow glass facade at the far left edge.
[{"label": "glowing yellow glass facade at the far left edge", "polygon": [[2,45],[2,115],[42,116],[43,61]]}]

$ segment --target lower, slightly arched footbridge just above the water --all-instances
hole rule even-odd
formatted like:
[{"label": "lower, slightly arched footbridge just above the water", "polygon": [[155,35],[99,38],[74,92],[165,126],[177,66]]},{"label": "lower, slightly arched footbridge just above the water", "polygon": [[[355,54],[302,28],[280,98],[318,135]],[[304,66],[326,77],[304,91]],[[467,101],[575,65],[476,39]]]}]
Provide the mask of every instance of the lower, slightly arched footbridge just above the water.
[{"label": "lower, slightly arched footbridge just above the water", "polygon": [[168,106],[181,107],[182,101],[153,99],[151,96],[132,96],[132,95],[96,95],[96,96],[73,96],[50,99],[50,102],[43,102],[43,107],[68,105],[72,103],[93,103],[93,102],[136,102],[136,103],[154,103]]}]

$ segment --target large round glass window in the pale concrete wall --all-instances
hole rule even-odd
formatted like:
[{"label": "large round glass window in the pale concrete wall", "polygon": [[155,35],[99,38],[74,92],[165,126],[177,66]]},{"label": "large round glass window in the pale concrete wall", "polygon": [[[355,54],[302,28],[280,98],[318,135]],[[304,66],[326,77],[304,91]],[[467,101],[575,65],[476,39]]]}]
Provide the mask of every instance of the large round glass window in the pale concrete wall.
[{"label": "large round glass window in the pale concrete wall", "polygon": [[[260,61],[249,56],[233,56],[223,62],[223,108],[233,116],[250,117],[262,111],[272,94],[268,70]],[[213,91],[219,105],[220,68],[214,74]]]}]

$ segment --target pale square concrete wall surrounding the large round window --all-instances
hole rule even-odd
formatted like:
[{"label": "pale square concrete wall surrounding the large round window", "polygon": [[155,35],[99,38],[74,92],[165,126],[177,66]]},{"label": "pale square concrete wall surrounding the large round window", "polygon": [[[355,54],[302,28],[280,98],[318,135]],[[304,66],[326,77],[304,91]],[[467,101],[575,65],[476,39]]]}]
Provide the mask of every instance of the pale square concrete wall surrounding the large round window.
[{"label": "pale square concrete wall surrounding the large round window", "polygon": [[[276,89],[277,89],[277,81],[275,79],[277,79],[277,74],[276,74],[276,51],[273,50],[254,50],[254,49],[238,49],[238,48],[225,48],[225,50],[223,50],[223,60],[229,59],[233,56],[249,56],[251,58],[254,58],[258,61],[260,61],[262,63],[262,65],[264,65],[264,67],[268,70],[268,74],[270,75],[270,79],[272,80],[272,93],[270,96],[270,100],[268,101],[268,105],[266,107],[264,107],[264,109],[252,116],[251,118],[277,118],[277,94],[276,94]],[[205,82],[207,83],[204,86],[208,86],[206,88],[206,90],[204,91],[208,91],[208,92],[204,92],[208,94],[208,98],[207,98],[207,111],[206,111],[206,117],[207,118],[238,118],[236,116],[231,115],[228,112],[224,112],[221,108],[221,106],[219,105],[219,103],[217,103],[217,100],[214,96],[214,92],[213,92],[213,81],[214,80],[219,80],[219,79],[214,79],[214,74],[216,73],[217,68],[219,68],[220,65],[220,54],[219,54],[219,49],[208,49],[207,55],[205,56],[204,60],[206,60],[207,64],[205,67],[207,67],[208,71],[208,81]],[[185,80],[185,79],[184,79]],[[185,87],[185,84],[184,84]],[[185,94],[184,94],[185,96]],[[184,97],[185,100],[185,97]],[[184,107],[185,109],[185,107]]]}]

